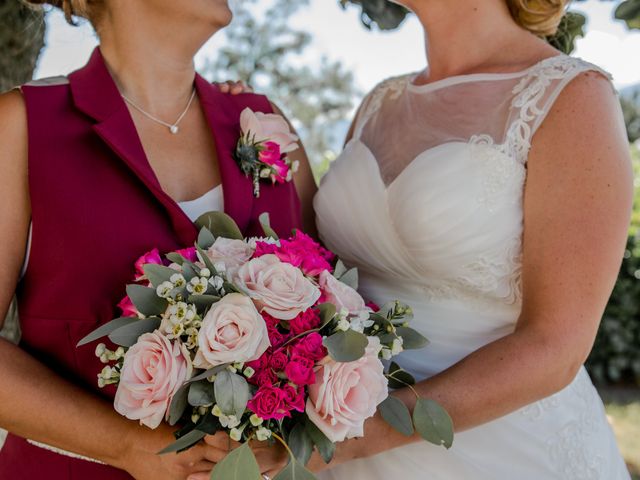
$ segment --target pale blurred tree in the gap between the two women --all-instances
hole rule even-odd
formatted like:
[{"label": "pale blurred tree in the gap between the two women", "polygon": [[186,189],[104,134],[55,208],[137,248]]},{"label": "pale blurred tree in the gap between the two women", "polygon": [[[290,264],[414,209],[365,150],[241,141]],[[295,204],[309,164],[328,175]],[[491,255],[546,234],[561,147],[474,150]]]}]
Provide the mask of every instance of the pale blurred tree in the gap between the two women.
[{"label": "pale blurred tree in the gap between the two women", "polygon": [[[204,71],[217,81],[242,79],[268,95],[302,137],[314,167],[326,163],[340,146],[336,134],[357,97],[353,75],[327,58],[309,64],[311,36],[296,29],[292,17],[309,0],[273,0],[264,7],[245,0],[234,8],[225,30],[226,44]],[[315,168],[318,175],[318,169]]]}]

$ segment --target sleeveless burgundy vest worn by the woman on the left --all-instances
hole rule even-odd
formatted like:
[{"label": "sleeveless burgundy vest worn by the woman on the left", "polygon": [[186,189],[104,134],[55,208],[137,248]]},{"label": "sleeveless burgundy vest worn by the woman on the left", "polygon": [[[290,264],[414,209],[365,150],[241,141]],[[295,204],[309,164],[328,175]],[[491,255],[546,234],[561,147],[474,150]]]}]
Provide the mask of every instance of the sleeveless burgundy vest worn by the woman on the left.
[{"label": "sleeveless burgundy vest worn by the woman on the left", "polygon": [[[94,355],[95,344],[76,348],[76,343],[118,315],[115,305],[141,254],[154,247],[166,252],[191,246],[197,229],[160,187],[99,49],[68,82],[53,83],[22,88],[33,233],[28,269],[17,291],[21,346],[62,377],[110,400],[114,389],[97,387],[103,365]],[[195,87],[215,140],[225,211],[246,235],[261,234],[263,212],[270,213],[279,234],[300,228],[294,185],[264,184],[256,199],[232,157],[240,112],[245,107],[271,112],[269,101],[222,94],[199,75]],[[91,421],[90,412],[85,421]],[[0,478],[131,477],[10,434],[0,451]]]}]

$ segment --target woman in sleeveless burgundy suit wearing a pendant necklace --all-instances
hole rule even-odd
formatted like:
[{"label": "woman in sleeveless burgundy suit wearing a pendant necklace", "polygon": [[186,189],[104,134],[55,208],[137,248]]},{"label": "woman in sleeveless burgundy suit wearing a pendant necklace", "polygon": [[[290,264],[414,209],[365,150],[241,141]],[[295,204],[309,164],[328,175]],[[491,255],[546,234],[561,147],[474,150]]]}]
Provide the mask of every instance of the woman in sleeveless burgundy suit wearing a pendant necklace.
[{"label": "woman in sleeveless burgundy suit wearing a pendant necklace", "polygon": [[0,96],[0,316],[17,289],[23,332],[19,347],[0,340],[0,427],[11,432],[0,478],[206,476],[228,439],[156,455],[172,429],[115,413],[114,391],[97,388],[95,345],[75,345],[117,313],[138,256],[192,244],[198,208],[223,203],[246,234],[265,211],[281,233],[313,230],[300,211],[315,190],[308,163],[299,151],[295,185],[263,185],[256,199],[232,159],[242,109],[272,106],[194,71],[194,54],[231,19],[227,0],[49,3],[89,18],[101,46],[68,78]]}]

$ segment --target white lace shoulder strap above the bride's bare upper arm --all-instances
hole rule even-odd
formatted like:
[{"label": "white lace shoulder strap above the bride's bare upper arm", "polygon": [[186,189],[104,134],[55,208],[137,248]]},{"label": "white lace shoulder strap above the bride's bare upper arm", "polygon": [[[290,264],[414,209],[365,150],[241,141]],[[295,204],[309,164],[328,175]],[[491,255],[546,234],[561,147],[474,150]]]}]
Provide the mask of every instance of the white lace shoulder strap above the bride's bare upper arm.
[{"label": "white lace shoulder strap above the bride's bare upper arm", "polygon": [[578,75],[588,71],[598,72],[612,80],[611,74],[597,65],[580,58],[558,55],[532,67],[513,88],[506,140],[521,162],[526,162],[531,139],[562,90]]}]

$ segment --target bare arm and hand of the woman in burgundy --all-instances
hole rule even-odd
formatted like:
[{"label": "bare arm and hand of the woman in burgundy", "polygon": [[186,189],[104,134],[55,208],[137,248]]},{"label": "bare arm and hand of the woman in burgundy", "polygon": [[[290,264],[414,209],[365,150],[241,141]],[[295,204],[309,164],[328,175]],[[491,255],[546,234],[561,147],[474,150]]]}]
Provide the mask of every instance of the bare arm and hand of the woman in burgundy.
[{"label": "bare arm and hand of the woman in burgundy", "polygon": [[[0,145],[1,322],[18,282],[31,216],[26,112],[17,91],[0,96]],[[19,436],[100,460],[140,479],[184,479],[213,466],[206,460],[212,448],[204,445],[180,455],[155,455],[173,440],[170,428],[151,431],[121,417],[109,402],[63,380],[3,339],[0,378],[0,426]]]}]

